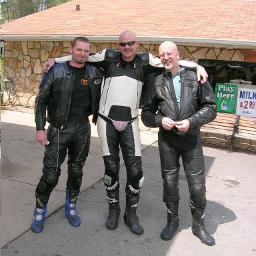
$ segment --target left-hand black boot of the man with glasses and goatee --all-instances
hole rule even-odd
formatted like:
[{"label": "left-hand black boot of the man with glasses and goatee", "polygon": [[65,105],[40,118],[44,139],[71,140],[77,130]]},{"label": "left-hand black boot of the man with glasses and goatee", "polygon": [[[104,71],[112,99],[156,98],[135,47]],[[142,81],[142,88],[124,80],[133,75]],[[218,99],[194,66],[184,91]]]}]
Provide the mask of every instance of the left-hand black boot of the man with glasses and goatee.
[{"label": "left-hand black boot of the man with glasses and goatee", "polygon": [[166,209],[167,225],[160,234],[161,239],[165,241],[171,240],[175,235],[175,231],[179,227],[179,203],[167,203]]}]

